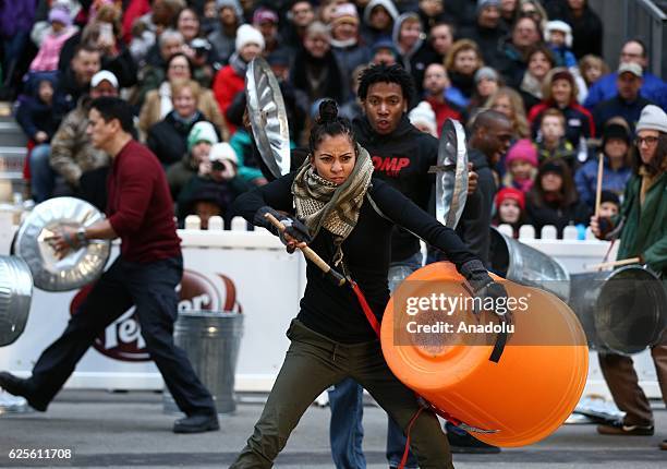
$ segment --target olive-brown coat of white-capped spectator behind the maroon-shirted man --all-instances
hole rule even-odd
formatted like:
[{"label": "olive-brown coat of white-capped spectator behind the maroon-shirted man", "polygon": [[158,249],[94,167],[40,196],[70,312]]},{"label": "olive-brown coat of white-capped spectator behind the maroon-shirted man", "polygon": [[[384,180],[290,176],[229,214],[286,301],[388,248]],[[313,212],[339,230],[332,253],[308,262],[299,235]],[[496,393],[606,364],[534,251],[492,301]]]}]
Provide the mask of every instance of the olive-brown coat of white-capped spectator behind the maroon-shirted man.
[{"label": "olive-brown coat of white-capped spectator behind the maroon-shirted man", "polygon": [[86,134],[88,127],[87,96],[80,99],[76,109],[65,116],[51,139],[51,168],[72,187],[78,185],[83,172],[109,166],[109,155],[93,146]]}]

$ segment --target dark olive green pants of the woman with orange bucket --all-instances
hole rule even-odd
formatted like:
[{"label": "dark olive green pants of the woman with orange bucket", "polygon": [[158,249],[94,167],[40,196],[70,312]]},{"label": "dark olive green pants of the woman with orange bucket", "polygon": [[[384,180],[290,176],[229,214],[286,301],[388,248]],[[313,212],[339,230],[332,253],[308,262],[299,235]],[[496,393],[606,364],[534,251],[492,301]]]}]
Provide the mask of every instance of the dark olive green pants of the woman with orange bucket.
[{"label": "dark olive green pants of the woman with orange bucket", "polygon": [[[293,320],[292,341],[253,435],[231,465],[233,469],[270,468],[301,416],[325,389],[353,377],[405,429],[419,410],[414,393],[391,373],[378,340],[336,342]],[[412,426],[411,448],[420,468],[453,468],[449,443],[436,416],[423,411]]]}]

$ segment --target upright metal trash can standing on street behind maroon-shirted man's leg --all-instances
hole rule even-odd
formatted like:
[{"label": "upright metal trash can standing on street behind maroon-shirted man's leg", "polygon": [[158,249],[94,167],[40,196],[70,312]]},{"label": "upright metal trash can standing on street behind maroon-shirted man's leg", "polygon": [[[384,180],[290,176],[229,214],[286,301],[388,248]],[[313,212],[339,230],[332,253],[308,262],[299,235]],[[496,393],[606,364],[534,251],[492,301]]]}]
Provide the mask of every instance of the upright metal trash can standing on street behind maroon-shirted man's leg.
[{"label": "upright metal trash can standing on street behind maroon-shirted man's leg", "polygon": [[[234,374],[242,336],[243,315],[239,313],[181,311],[174,324],[173,340],[213,395],[218,413],[237,410]],[[162,402],[166,413],[180,412],[168,389]]]}]

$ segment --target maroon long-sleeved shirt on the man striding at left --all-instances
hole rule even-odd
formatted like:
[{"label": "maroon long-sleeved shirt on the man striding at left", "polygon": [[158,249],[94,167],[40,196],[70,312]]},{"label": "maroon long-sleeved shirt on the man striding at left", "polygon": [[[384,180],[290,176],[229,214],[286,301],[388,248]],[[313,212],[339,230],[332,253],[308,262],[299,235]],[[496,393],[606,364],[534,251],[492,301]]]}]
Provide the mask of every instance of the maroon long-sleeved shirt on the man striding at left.
[{"label": "maroon long-sleeved shirt on the man striding at left", "polygon": [[107,179],[107,216],[125,261],[150,263],[181,255],[167,176],[157,157],[131,140]]}]

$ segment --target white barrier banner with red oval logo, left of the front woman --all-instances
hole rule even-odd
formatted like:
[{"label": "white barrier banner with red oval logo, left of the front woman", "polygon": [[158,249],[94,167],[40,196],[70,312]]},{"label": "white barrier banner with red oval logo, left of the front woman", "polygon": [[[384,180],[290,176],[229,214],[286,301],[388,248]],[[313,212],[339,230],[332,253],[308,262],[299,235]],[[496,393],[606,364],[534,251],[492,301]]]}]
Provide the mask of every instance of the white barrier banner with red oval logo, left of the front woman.
[{"label": "white barrier banner with red oval logo, left of the front woman", "polygon": [[[299,312],[305,281],[302,256],[276,249],[185,248],[183,258],[179,310],[243,314],[237,387],[267,390],[289,345],[284,333]],[[39,353],[64,330],[90,288],[57,293],[35,289],[25,332],[0,349],[0,370],[29,374]],[[161,383],[132,308],[98,335],[68,385],[136,389],[160,388]]]}]

